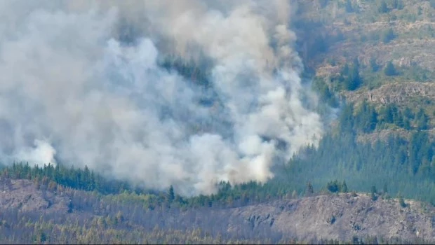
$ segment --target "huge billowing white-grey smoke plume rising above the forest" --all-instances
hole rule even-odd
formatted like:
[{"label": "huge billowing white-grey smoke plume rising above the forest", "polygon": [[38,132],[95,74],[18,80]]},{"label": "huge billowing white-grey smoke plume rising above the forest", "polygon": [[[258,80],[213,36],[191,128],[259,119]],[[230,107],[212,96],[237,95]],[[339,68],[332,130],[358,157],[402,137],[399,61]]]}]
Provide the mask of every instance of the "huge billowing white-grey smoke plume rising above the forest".
[{"label": "huge billowing white-grey smoke plume rising above the forest", "polygon": [[[278,0],[0,1],[1,161],[56,159],[184,195],[213,193],[221,180],[267,181],[274,160],[322,134],[302,103],[316,98],[301,83],[292,9]],[[163,69],[170,55],[210,60],[211,88]]]}]

